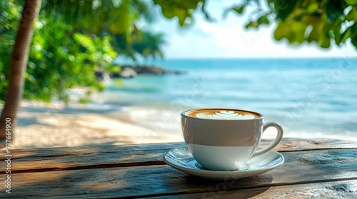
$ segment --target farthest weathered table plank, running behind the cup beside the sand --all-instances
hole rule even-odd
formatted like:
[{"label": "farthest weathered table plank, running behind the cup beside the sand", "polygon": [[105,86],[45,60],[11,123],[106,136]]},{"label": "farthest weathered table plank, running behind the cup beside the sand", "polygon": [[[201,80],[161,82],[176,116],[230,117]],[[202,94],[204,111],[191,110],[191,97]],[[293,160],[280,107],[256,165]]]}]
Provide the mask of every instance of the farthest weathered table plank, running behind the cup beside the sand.
[{"label": "farthest weathered table plank, running behind the cup beside the sand", "polygon": [[[268,141],[262,141],[267,145]],[[168,144],[145,144],[128,146],[79,146],[57,147],[43,149],[12,150],[14,162],[12,171],[60,171],[79,168],[125,167],[160,165],[162,154],[177,146],[184,146],[183,142]],[[305,140],[283,139],[276,147],[277,151],[303,151],[316,149],[357,148],[357,142],[348,140]],[[0,161],[6,159],[1,151]],[[0,171],[4,173],[4,171]]]}]

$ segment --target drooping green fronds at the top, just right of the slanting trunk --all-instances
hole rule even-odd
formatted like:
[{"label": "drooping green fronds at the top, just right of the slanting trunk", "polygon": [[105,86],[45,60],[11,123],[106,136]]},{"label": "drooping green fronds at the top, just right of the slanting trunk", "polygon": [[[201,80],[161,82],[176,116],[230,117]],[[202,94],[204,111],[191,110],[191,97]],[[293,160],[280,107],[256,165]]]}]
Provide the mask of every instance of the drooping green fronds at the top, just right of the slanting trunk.
[{"label": "drooping green fronds at the top, just right of the slanting trunk", "polygon": [[81,33],[121,34],[141,16],[151,21],[151,10],[141,0],[44,0],[43,14],[56,18],[59,14],[74,31]]}]

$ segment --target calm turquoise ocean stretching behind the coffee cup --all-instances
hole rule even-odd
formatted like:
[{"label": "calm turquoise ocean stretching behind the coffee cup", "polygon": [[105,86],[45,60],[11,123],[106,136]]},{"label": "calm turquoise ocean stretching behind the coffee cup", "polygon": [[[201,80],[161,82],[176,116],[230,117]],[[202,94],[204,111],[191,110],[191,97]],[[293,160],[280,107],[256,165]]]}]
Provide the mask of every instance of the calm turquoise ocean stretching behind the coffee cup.
[{"label": "calm turquoise ocean stretching behind the coffee cup", "polygon": [[146,119],[162,122],[166,119],[161,114],[179,117],[186,109],[248,109],[262,113],[266,122],[280,123],[289,136],[357,137],[357,58],[151,60],[146,64],[183,74],[109,82],[96,96],[101,107],[113,113],[125,107],[161,110]]}]

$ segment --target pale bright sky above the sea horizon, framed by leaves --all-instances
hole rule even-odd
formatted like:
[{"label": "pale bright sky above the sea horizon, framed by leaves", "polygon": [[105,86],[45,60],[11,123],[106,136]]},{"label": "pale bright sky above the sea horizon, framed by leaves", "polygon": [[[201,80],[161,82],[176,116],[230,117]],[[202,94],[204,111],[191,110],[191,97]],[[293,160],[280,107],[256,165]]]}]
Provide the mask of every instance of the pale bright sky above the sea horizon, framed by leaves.
[{"label": "pale bright sky above the sea horizon, framed by leaves", "polygon": [[[224,2],[224,4],[223,4]],[[208,1],[207,10],[215,23],[208,22],[200,11],[193,16],[193,25],[178,26],[177,18],[162,17],[159,7],[152,30],[165,33],[165,58],[308,58],[308,57],[357,57],[357,50],[350,43],[323,49],[315,43],[288,45],[287,41],[275,41],[274,26],[246,29],[248,15],[228,14],[223,10],[236,1]]]}]

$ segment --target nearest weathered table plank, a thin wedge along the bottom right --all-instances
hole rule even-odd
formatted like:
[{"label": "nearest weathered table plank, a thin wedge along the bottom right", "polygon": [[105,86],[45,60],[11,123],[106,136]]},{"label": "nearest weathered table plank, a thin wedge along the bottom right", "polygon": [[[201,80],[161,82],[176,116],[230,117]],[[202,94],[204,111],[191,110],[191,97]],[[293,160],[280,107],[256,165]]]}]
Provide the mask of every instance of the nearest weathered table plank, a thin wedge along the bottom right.
[{"label": "nearest weathered table plank, a thin wedge along the bottom right", "polygon": [[357,198],[357,180],[266,186],[240,190],[225,190],[222,186],[210,192],[166,195],[153,198]]}]

